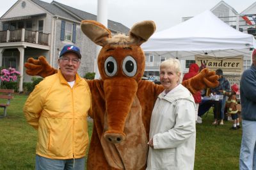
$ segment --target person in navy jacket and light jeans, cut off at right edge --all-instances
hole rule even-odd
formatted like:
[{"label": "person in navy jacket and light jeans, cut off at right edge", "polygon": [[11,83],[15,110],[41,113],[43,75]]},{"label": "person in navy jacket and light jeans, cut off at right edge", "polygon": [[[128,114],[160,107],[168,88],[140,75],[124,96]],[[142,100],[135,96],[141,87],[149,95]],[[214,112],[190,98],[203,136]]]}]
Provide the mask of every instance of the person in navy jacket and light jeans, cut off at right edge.
[{"label": "person in navy jacket and light jeans, cut off at right edge", "polygon": [[256,50],[252,66],[243,72],[240,81],[242,106],[242,142],[239,158],[240,170],[256,169]]}]

